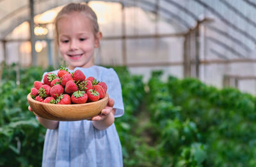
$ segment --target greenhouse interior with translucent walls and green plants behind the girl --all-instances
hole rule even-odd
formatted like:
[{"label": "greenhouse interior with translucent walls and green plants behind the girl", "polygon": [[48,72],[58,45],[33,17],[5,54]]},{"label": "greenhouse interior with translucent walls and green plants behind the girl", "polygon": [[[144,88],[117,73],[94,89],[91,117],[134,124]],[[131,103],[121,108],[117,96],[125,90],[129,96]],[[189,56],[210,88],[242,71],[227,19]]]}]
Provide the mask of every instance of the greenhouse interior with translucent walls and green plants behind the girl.
[{"label": "greenhouse interior with translucent walls and green plants behind the girl", "polygon": [[27,95],[66,65],[54,20],[68,3],[96,13],[93,63],[120,79],[124,166],[256,166],[254,0],[0,0],[0,166],[42,165]]}]

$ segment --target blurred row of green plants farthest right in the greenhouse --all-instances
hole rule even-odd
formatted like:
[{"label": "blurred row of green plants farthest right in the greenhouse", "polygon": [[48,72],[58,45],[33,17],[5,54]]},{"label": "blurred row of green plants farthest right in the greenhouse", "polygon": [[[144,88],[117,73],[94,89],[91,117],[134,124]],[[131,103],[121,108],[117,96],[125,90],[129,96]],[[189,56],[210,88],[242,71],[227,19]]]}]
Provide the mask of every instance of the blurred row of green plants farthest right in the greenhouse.
[{"label": "blurred row of green plants farthest right in the greenhouse", "polygon": [[207,147],[205,166],[256,165],[255,97],[193,78],[170,76],[167,84],[181,117],[195,123]]}]

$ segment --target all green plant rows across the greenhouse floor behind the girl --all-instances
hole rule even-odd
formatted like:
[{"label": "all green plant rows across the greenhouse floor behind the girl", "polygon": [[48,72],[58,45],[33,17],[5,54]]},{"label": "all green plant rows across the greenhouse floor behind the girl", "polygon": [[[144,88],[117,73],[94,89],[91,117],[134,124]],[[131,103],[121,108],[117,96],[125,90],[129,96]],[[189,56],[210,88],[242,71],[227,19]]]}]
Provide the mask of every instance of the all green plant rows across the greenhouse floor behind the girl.
[{"label": "all green plant rows across the greenhouse floor behind the girl", "polygon": [[[256,166],[255,97],[191,78],[163,82],[162,72],[143,84],[126,67],[114,69],[125,107],[115,120],[124,166]],[[51,70],[4,67],[0,166],[41,166],[46,130],[28,111],[26,95]]]}]

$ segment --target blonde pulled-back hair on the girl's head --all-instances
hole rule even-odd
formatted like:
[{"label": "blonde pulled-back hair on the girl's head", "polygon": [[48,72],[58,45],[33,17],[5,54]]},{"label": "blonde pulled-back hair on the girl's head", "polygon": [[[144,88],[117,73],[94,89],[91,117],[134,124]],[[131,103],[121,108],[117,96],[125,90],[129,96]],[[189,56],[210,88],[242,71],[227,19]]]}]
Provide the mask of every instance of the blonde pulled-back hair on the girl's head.
[{"label": "blonde pulled-back hair on the girl's head", "polygon": [[86,3],[69,3],[60,10],[60,12],[58,13],[58,15],[56,15],[56,18],[54,20],[54,39],[56,46],[58,45],[59,38],[58,20],[60,20],[63,15],[67,15],[72,12],[83,13],[86,17],[92,20],[94,35],[96,35],[99,32],[97,15],[92,10],[92,8],[90,8],[90,6],[88,6]]}]

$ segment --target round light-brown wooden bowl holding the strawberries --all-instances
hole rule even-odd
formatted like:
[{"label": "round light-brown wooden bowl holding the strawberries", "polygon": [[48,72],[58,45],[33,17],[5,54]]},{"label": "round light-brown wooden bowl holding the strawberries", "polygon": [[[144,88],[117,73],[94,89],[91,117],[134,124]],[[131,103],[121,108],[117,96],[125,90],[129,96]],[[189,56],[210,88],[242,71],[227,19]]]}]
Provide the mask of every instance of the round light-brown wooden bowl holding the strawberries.
[{"label": "round light-brown wooden bowl holding the strawberries", "polygon": [[100,111],[108,104],[108,93],[103,99],[85,104],[49,104],[32,99],[27,96],[28,104],[38,116],[59,121],[90,120],[99,115]]}]

